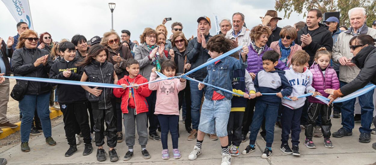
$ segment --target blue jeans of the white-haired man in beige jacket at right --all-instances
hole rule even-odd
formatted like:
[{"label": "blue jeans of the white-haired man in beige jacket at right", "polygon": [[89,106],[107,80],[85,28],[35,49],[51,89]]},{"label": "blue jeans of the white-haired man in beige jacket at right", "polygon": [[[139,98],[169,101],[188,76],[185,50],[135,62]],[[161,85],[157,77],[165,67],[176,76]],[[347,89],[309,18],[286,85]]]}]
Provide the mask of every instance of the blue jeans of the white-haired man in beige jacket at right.
[{"label": "blue jeans of the white-haired man in beige jacket at right", "polygon": [[[340,86],[344,86],[347,83],[340,81]],[[360,133],[371,133],[371,123],[373,117],[373,91],[365,93],[359,96],[359,104],[361,107],[361,124],[359,128]],[[341,113],[342,113],[342,127],[347,131],[352,131],[354,128],[354,105],[356,98],[348,101],[342,102]]]}]

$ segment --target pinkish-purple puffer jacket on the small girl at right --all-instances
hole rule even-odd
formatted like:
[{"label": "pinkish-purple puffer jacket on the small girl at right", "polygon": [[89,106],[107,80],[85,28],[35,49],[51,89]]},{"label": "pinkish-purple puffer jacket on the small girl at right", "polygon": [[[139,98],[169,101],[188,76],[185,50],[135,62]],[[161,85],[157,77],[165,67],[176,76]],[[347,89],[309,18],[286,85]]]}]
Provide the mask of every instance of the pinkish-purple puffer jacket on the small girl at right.
[{"label": "pinkish-purple puffer jacket on the small girl at right", "polygon": [[[311,71],[313,75],[312,87],[314,87],[314,89],[317,92],[320,92],[324,97],[327,98],[329,96],[329,94],[324,92],[325,89],[340,89],[340,81],[338,80],[337,73],[331,66],[326,68],[325,77],[320,69],[320,66],[318,66],[316,63],[309,68],[309,71]],[[308,102],[325,104],[312,96],[308,97]]]}]

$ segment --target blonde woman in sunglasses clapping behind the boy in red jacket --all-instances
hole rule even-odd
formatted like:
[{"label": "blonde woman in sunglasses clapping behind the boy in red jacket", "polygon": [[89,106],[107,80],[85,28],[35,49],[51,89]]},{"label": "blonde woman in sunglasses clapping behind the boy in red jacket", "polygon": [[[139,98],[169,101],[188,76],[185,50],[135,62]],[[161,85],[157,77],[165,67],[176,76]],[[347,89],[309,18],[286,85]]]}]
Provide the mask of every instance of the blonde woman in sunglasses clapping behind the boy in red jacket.
[{"label": "blonde woman in sunglasses clapping behind the boy in red jacket", "polygon": [[[127,46],[124,46],[120,42],[120,36],[111,30],[103,34],[101,45],[108,48],[108,62],[114,65],[114,70],[118,78],[123,78],[124,75],[129,73],[126,70],[125,63],[129,58],[133,58],[130,49]],[[122,132],[122,112],[121,112],[121,98],[116,98],[116,113],[117,113],[117,142],[123,141],[123,132]]]}]

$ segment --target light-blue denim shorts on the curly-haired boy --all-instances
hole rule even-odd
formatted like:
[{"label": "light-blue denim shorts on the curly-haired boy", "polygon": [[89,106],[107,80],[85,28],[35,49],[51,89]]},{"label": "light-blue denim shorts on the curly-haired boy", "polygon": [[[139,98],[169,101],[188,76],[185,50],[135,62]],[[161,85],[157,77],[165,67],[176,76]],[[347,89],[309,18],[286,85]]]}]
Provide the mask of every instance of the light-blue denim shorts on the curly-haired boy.
[{"label": "light-blue denim shorts on the curly-haired boy", "polygon": [[199,130],[227,136],[227,122],[231,111],[231,100],[213,101],[205,99],[202,104]]}]

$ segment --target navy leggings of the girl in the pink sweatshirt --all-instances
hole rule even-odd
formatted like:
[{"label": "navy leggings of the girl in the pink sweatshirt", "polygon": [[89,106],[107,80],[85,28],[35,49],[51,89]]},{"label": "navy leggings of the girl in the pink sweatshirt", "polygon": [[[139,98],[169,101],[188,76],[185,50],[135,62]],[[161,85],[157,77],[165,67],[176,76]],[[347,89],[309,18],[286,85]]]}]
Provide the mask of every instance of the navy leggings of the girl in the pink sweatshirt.
[{"label": "navy leggings of the girl in the pink sweatshirt", "polygon": [[164,115],[158,114],[159,124],[161,124],[161,141],[162,148],[168,149],[167,139],[168,131],[171,134],[172,148],[176,149],[179,141],[179,136],[177,134],[177,123],[179,122],[179,115]]}]

